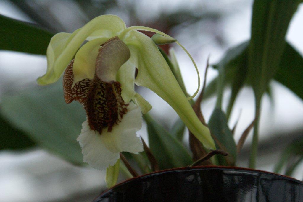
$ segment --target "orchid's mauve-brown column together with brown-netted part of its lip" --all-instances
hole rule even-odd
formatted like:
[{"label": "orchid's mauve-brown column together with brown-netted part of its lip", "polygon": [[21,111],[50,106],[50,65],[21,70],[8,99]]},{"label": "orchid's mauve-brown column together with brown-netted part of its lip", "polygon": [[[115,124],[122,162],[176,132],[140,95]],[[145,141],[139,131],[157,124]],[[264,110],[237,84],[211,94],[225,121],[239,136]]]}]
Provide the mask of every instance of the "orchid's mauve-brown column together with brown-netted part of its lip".
[{"label": "orchid's mauve-brown column together with brown-netted part of its lip", "polygon": [[128,104],[124,102],[121,84],[115,78],[119,68],[130,57],[128,47],[118,37],[100,45],[93,79],[83,79],[74,84],[74,60],[63,76],[66,103],[80,102],[85,108],[90,129],[99,134],[105,128],[110,132],[127,113]]}]

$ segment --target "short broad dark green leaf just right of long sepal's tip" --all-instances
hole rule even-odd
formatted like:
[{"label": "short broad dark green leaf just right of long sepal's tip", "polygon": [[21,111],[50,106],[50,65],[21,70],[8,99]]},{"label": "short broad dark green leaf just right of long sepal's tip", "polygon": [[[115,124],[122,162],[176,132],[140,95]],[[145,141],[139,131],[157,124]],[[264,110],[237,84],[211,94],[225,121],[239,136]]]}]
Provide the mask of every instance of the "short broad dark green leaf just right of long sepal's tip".
[{"label": "short broad dark green leaf just right of long sepal's tip", "polygon": [[219,165],[234,166],[237,159],[236,143],[228,128],[225,114],[218,108],[215,108],[208,122],[208,127],[215,139],[217,149],[223,149],[229,155],[218,155]]}]

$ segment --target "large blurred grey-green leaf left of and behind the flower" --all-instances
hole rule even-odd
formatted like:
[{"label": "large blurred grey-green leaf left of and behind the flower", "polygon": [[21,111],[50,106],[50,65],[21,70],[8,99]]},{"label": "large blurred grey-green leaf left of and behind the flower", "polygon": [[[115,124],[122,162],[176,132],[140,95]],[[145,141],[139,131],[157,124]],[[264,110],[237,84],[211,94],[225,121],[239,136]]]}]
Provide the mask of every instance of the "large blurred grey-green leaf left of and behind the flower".
[{"label": "large blurred grey-green leaf left of and behind the flower", "polygon": [[85,120],[81,104],[66,104],[62,82],[4,96],[0,114],[51,152],[75,164],[83,164],[76,138]]}]

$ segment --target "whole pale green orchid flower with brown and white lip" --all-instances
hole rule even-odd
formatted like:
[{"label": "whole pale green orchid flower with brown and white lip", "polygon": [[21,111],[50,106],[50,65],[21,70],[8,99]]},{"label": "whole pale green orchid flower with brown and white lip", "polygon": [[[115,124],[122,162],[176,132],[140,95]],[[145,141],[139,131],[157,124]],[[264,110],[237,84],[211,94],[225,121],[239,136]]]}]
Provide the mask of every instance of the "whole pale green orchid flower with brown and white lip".
[{"label": "whole pale green orchid flower with brown and white lip", "polygon": [[65,70],[65,101],[80,102],[87,114],[77,138],[84,161],[100,170],[114,165],[122,151],[143,150],[136,131],[142,126],[141,111],[146,113],[151,106],[134,91],[134,84],[164,99],[205,147],[215,149],[208,128],[199,121],[155,42],[137,30],[173,41],[158,30],[127,28],[118,16],[102,15],[72,34],[53,36],[47,72],[37,80],[41,85],[56,82]]}]

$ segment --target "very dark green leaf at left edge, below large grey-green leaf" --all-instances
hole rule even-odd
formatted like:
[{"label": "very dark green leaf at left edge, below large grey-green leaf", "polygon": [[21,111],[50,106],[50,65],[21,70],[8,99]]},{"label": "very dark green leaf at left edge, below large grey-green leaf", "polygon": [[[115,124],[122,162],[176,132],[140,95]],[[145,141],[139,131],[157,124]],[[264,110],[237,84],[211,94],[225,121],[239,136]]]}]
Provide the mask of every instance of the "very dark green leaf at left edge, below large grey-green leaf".
[{"label": "very dark green leaf at left edge, below large grey-green leaf", "polygon": [[1,149],[25,149],[36,143],[23,131],[16,129],[0,115]]}]

